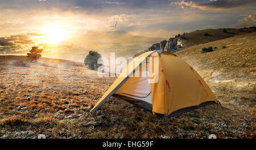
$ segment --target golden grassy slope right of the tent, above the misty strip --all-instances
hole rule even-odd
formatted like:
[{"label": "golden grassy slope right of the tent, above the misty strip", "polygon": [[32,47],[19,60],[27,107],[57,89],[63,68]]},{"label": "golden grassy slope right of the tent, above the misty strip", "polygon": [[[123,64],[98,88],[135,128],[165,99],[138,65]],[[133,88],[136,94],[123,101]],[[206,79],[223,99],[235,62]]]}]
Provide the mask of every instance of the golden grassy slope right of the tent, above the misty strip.
[{"label": "golden grassy slope right of the tent, above the misty strip", "polygon": [[[202,48],[212,46],[213,52],[201,53]],[[225,46],[226,48],[222,48]],[[188,62],[202,75],[214,80],[214,72],[226,79],[255,82],[256,32],[222,40],[189,46],[175,54]]]}]

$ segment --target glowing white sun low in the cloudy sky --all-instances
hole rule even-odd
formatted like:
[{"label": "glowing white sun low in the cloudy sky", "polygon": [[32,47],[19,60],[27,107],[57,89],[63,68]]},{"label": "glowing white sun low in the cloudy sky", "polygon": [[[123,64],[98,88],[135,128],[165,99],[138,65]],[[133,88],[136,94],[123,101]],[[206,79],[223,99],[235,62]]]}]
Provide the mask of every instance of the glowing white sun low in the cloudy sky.
[{"label": "glowing white sun low in the cloudy sky", "polygon": [[45,29],[46,42],[48,44],[59,44],[67,38],[67,31],[61,27],[48,27]]}]

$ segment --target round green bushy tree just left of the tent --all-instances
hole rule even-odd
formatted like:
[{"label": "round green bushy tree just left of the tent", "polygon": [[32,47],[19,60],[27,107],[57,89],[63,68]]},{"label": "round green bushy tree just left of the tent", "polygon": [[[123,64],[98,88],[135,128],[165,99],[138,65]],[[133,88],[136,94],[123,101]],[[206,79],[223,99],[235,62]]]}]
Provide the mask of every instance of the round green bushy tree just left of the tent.
[{"label": "round green bushy tree just left of the tent", "polygon": [[98,64],[98,59],[101,58],[101,54],[96,51],[90,50],[89,54],[84,59],[84,65],[88,68],[95,70],[102,64]]}]

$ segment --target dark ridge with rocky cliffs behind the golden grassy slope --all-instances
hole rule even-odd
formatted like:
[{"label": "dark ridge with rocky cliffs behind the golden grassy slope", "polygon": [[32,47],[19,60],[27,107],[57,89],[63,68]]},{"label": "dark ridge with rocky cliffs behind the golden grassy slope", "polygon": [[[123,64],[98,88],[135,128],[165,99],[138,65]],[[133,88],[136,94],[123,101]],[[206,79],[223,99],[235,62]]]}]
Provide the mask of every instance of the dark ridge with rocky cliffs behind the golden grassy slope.
[{"label": "dark ridge with rocky cliffs behind the golden grassy slope", "polygon": [[175,37],[170,37],[168,40],[163,40],[152,44],[146,50],[135,54],[135,56],[151,51],[151,50],[166,50],[169,52],[177,52],[181,49],[188,48],[189,46],[204,44],[224,38],[233,37],[236,35],[243,35],[246,33],[255,32],[255,27],[250,28],[218,28],[218,29],[203,29],[190,33],[178,34]]}]

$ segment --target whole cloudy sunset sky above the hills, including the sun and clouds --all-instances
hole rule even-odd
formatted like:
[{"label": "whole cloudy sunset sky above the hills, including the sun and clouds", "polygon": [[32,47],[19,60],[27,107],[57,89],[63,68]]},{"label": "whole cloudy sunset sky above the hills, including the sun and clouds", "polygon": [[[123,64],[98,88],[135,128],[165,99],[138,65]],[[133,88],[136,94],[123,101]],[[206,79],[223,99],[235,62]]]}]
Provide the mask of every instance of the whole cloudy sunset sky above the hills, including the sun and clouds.
[{"label": "whole cloudy sunset sky above the hills, including the sun and clouds", "polygon": [[[171,37],[256,26],[256,1],[251,0],[1,0],[0,10],[0,54],[26,54],[39,44],[53,49],[87,31]],[[115,22],[116,28],[109,27]]]}]

